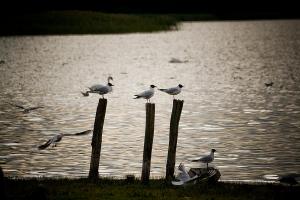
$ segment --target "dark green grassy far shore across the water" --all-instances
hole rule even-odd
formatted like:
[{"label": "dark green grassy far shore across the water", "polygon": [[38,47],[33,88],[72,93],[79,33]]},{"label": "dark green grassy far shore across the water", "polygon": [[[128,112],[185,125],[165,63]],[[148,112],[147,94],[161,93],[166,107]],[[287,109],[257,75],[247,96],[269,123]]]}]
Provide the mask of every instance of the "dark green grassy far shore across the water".
[{"label": "dark green grassy far shore across the water", "polygon": [[247,15],[216,16],[209,13],[114,14],[77,10],[45,11],[2,16],[0,36],[143,33],[176,30],[178,24],[185,21],[250,19],[277,18],[276,15],[273,18],[256,18]]}]

